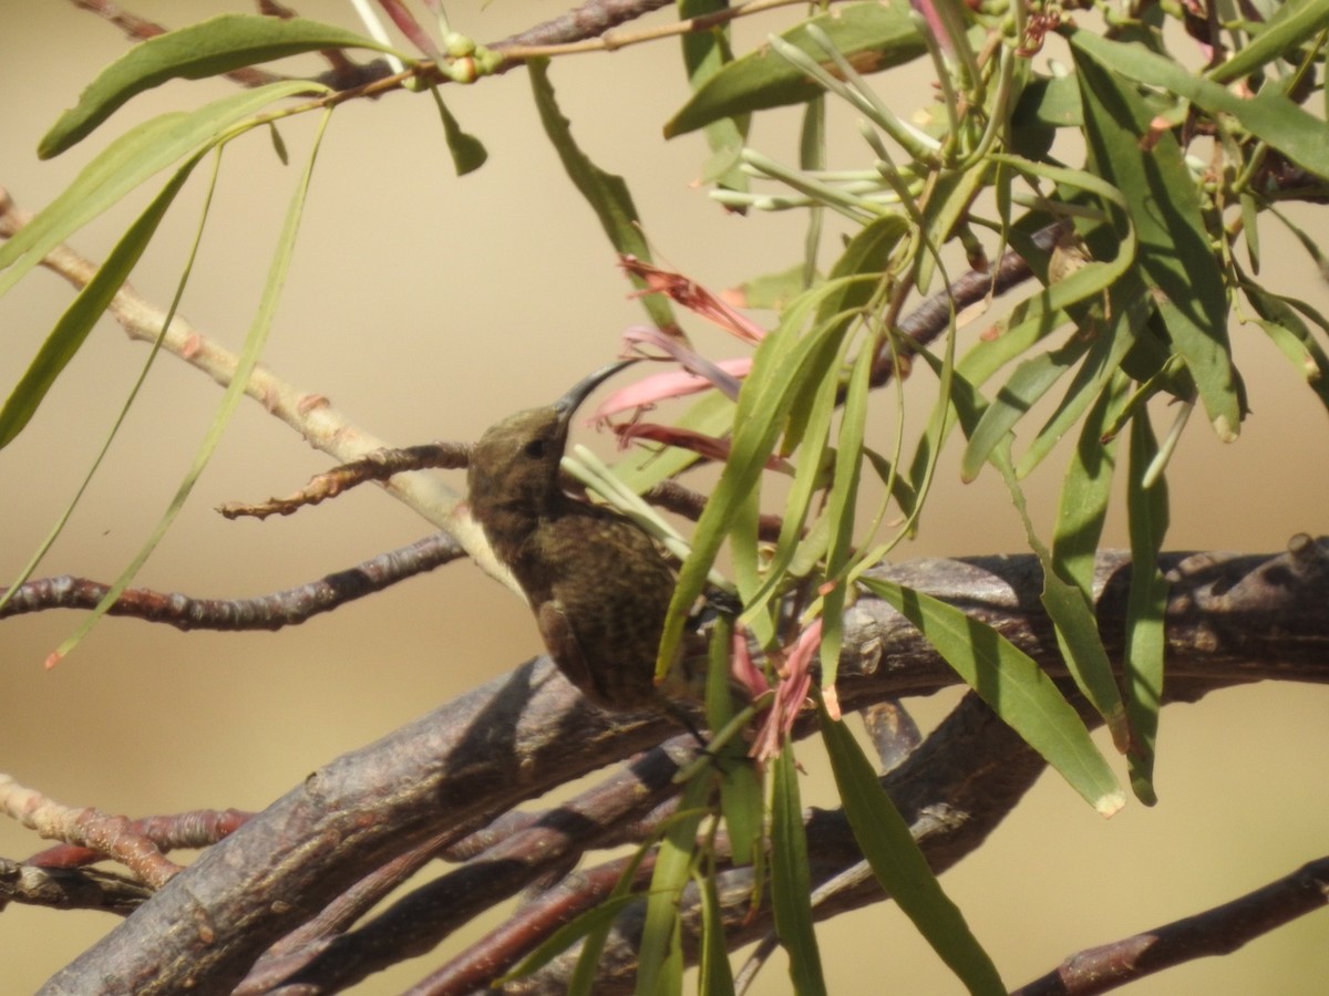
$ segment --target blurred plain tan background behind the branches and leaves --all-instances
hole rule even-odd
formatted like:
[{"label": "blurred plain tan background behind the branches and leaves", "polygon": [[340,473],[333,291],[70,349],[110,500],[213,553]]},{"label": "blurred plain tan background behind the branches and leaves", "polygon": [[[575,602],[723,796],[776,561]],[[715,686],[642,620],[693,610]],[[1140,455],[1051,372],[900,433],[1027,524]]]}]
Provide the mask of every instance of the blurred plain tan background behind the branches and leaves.
[{"label": "blurred plain tan background behind the branches and leaves", "polygon": [[[132,0],[129,7],[181,27],[219,4]],[[247,8],[234,3],[230,9]],[[502,0],[484,11],[459,5],[452,15],[461,31],[492,40],[560,9]],[[39,163],[39,137],[126,42],[72,4],[19,0],[5,11],[0,185],[36,210],[106,142],[98,134]],[[307,3],[300,11],[354,24],[342,3]],[[743,25],[740,45],[776,24]],[[553,81],[587,151],[629,178],[668,264],[723,288],[796,258],[801,218],[723,214],[690,186],[704,158],[700,139],[659,139],[661,124],[686,96],[675,42],[560,60]],[[909,77],[881,85],[902,112],[929,97]],[[170,85],[136,100],[106,135],[226,92],[226,84]],[[288,381],[328,396],[352,421],[399,445],[474,438],[498,417],[552,398],[610,359],[623,327],[641,320],[597,223],[538,133],[525,74],[448,88],[445,96],[490,151],[489,163],[461,181],[452,175],[428,97],[393,94],[336,113],[264,357]],[[863,161],[852,118],[836,112],[833,121],[849,135],[837,146],[837,165]],[[311,125],[283,125],[288,167],[262,133],[237,143],[222,163],[182,311],[230,345],[253,317]],[[762,122],[754,142],[788,162],[795,158],[789,137],[785,116]],[[133,278],[162,304],[197,224],[203,173]],[[113,212],[78,234],[74,246],[101,259],[132,216]],[[1300,216],[1326,231],[1322,212]],[[1304,254],[1272,227],[1264,238],[1271,284],[1329,308],[1325,284]],[[44,271],[0,300],[5,392],[68,300],[68,288]],[[975,333],[973,327],[966,335]],[[711,332],[699,337],[712,355],[738,352]],[[1255,417],[1232,446],[1193,420],[1170,471],[1171,548],[1272,551],[1294,533],[1329,531],[1325,413],[1259,329],[1237,327],[1233,337]],[[104,323],[29,429],[0,452],[0,583],[69,501],[145,355]],[[930,390],[925,382],[912,388]],[[197,372],[163,357],[40,574],[113,579],[170,499],[218,398]],[[1021,551],[1023,537],[1003,490],[986,478],[962,486],[954,456],[948,454],[922,535],[901,556]],[[198,596],[259,595],[428,530],[376,489],[266,523],[231,523],[213,511],[227,501],[284,494],[327,465],[246,402],[138,583]],[[1051,461],[1031,483],[1045,534],[1058,466]],[[1108,542],[1124,544],[1119,517]],[[0,627],[0,770],[66,805],[130,815],[262,809],[315,766],[538,649],[525,608],[466,563],[276,635],[183,635],[105,620],[58,668],[43,671],[45,655],[77,622],[60,612]],[[920,704],[920,717],[934,721],[953,700]],[[945,886],[1010,985],[1079,948],[1235,898],[1325,853],[1326,720],[1324,688],[1264,685],[1174,708],[1163,720],[1156,809],[1132,803],[1103,821],[1055,778],[1045,778]],[[805,802],[829,803],[815,753],[812,745],[800,753],[812,770]],[[0,823],[0,854],[23,858],[41,846]],[[96,914],[5,910],[0,988],[35,989],[112,926]],[[823,926],[820,938],[833,992],[957,991],[892,907],[841,918]],[[396,992],[444,954],[359,992]],[[1188,965],[1132,992],[1309,996],[1324,992],[1326,979],[1329,915],[1320,912],[1232,957]],[[760,985],[766,993],[785,992],[783,963],[769,965]]]}]

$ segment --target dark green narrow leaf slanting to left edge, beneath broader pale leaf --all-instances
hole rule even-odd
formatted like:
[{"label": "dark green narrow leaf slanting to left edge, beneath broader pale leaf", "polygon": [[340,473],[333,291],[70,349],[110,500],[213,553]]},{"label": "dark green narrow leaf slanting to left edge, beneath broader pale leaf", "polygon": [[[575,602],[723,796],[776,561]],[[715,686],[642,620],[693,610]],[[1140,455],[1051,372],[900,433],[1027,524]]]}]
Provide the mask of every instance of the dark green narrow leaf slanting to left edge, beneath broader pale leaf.
[{"label": "dark green narrow leaf slanting to left edge, beneath broader pale leaf", "polygon": [[8,446],[23,432],[43,398],[47,397],[51,385],[56,382],[56,377],[82,347],[88,333],[105,313],[121,284],[129,279],[130,271],[144,255],[148,243],[152,242],[157,226],[166,216],[167,208],[175,201],[175,195],[202,155],[203,153],[197,154],[177,170],[170,182],[153,198],[148,210],[129,226],[101,268],[73,299],[56,327],[51,329],[47,341],[41,344],[36,357],[28,365],[28,371],[19,380],[4,408],[0,409],[0,449]]}]

